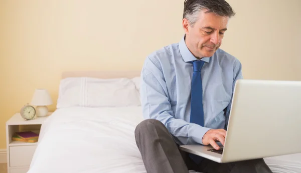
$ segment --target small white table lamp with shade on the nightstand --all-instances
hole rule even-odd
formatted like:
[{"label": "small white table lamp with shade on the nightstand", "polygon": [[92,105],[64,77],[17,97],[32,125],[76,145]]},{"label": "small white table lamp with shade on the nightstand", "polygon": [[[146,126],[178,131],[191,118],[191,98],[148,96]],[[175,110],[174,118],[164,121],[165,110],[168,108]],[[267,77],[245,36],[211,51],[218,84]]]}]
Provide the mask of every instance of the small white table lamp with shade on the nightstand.
[{"label": "small white table lamp with shade on the nightstand", "polygon": [[37,116],[43,117],[48,115],[47,105],[51,105],[52,99],[47,89],[38,88],[35,90],[31,104],[36,105]]}]

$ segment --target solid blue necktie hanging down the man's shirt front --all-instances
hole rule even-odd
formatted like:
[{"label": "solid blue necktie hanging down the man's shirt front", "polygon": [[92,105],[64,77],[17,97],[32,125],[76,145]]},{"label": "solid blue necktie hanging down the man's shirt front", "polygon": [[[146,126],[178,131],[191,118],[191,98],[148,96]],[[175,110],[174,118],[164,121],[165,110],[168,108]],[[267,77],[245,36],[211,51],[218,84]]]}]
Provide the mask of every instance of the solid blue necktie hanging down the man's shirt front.
[{"label": "solid blue necktie hanging down the man's shirt front", "polygon": [[[193,75],[191,82],[191,111],[190,122],[204,126],[204,110],[203,110],[203,86],[201,77],[201,68],[204,65],[203,60],[193,61]],[[199,164],[203,157],[189,154],[189,156]]]}]

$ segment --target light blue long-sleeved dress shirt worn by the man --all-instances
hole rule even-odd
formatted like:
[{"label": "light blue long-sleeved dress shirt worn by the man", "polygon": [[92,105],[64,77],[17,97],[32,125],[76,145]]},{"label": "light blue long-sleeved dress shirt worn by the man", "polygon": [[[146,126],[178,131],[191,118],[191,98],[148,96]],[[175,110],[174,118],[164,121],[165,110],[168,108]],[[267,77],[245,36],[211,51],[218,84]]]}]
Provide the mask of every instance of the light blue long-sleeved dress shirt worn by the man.
[{"label": "light blue long-sleeved dress shirt worn by the man", "polygon": [[222,49],[203,57],[204,127],[190,123],[192,61],[185,36],[165,46],[144,61],[141,71],[141,106],[144,119],[160,120],[178,144],[202,143],[209,129],[227,129],[234,84],[242,78],[241,63]]}]

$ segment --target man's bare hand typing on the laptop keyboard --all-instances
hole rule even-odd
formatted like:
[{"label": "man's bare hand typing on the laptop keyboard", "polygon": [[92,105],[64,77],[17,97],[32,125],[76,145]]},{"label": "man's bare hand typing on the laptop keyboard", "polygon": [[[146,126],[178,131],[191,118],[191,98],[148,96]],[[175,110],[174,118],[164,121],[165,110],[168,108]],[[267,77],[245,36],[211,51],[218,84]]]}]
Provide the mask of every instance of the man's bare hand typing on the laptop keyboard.
[{"label": "man's bare hand typing on the laptop keyboard", "polygon": [[203,138],[202,142],[204,145],[211,144],[215,149],[220,149],[216,141],[220,141],[222,145],[225,144],[226,130],[224,129],[210,129],[208,130]]}]

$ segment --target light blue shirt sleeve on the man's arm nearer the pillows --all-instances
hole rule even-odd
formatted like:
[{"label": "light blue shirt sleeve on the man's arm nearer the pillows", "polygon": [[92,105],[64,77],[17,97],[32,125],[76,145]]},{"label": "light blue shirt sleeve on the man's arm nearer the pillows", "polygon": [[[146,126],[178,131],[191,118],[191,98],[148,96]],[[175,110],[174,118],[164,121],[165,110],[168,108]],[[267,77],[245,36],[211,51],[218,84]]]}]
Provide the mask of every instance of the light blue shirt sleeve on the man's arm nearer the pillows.
[{"label": "light blue shirt sleeve on the man's arm nearer the pillows", "polygon": [[144,62],[141,71],[140,95],[145,119],[152,118],[161,121],[183,144],[203,144],[203,135],[210,128],[175,118],[162,68],[155,59],[146,58]]}]

